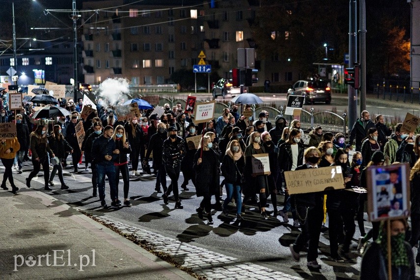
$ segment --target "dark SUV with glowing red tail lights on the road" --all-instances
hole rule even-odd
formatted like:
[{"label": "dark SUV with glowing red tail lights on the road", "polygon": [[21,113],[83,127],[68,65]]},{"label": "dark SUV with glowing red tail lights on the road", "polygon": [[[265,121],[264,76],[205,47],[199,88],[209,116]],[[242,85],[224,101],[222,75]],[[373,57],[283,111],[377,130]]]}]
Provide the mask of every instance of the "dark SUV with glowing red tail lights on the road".
[{"label": "dark SUV with glowing red tail lights on the road", "polygon": [[287,91],[289,95],[305,96],[305,104],[313,104],[314,102],[331,103],[331,89],[326,80],[300,80],[293,84]]}]

